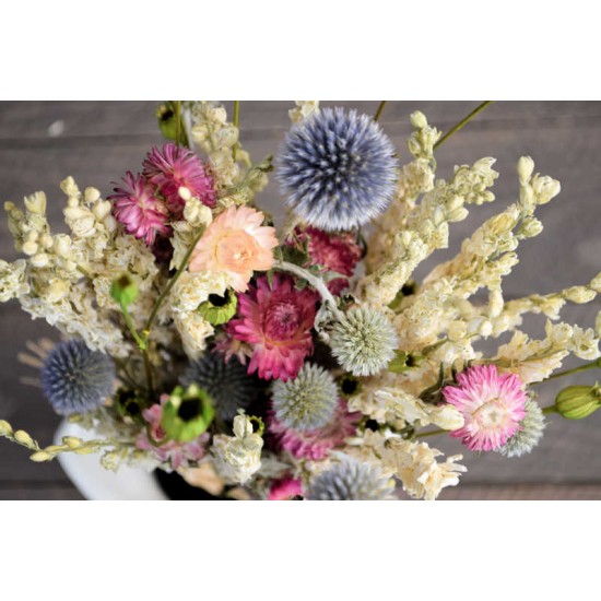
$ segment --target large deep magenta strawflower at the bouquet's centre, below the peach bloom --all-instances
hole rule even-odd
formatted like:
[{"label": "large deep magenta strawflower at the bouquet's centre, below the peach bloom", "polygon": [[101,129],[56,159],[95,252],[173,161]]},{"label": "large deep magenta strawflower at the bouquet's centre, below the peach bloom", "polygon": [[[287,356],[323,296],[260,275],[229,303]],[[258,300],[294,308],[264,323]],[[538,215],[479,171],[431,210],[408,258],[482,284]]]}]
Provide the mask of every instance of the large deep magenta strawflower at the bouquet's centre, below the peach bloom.
[{"label": "large deep magenta strawflower at the bouquet's centre, below the peach bloom", "polygon": [[267,276],[257,287],[238,294],[238,317],[227,331],[252,346],[248,373],[259,372],[266,380],[294,378],[313,352],[311,328],[318,295],[294,288],[291,278],[276,273],[270,286]]}]

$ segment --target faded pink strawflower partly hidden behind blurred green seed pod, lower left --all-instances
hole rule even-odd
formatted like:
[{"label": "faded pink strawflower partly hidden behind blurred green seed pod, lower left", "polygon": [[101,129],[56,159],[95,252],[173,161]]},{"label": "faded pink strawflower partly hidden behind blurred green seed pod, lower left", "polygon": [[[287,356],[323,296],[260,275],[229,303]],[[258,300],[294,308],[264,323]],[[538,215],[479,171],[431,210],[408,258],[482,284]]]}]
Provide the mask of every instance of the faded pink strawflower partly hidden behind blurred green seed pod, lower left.
[{"label": "faded pink strawflower partly hidden behind blurred green seed pod, lower left", "polygon": [[157,444],[165,438],[165,431],[161,427],[161,420],[163,419],[163,405],[168,399],[168,394],[163,394],[161,397],[161,404],[153,404],[150,409],[142,411],[142,415],[149,424],[150,435],[155,444],[151,443],[146,429],[143,429],[135,440],[135,447],[141,450],[151,451],[155,459],[162,463],[170,462],[170,467],[174,470],[193,467],[197,461],[204,457],[205,445],[209,441],[210,435],[208,433],[201,434],[190,443],[169,440],[158,446]]}]

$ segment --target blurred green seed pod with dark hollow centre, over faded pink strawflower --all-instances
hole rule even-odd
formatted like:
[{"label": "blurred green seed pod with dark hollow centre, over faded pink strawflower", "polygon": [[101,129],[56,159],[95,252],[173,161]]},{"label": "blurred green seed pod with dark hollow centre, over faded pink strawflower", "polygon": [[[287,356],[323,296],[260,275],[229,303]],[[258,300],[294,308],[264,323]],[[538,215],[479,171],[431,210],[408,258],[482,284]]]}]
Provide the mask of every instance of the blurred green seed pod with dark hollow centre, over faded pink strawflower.
[{"label": "blurred green seed pod with dark hollow centre, over faded pink strawflower", "polygon": [[213,417],[211,397],[204,390],[196,385],[186,390],[178,386],[163,406],[161,427],[168,438],[189,443],[207,432]]}]

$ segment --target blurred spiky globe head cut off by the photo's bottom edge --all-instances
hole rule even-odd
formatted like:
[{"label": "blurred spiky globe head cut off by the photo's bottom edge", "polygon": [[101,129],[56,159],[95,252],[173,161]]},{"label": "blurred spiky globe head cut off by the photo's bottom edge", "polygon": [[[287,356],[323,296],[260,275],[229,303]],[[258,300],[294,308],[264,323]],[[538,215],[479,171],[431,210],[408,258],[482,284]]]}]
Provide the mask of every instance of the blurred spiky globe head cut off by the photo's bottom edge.
[{"label": "blurred spiky globe head cut off by the photo's bottom edge", "polygon": [[310,483],[309,500],[389,500],[393,482],[377,466],[343,457]]}]

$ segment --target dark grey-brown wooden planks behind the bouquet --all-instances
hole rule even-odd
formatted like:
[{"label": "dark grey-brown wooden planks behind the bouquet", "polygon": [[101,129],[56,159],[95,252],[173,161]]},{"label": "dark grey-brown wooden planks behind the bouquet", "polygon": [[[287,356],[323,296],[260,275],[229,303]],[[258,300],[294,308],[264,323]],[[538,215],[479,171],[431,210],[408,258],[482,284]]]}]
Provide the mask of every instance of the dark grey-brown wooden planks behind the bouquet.
[{"label": "dark grey-brown wooden planks behind the bouquet", "polygon": [[[331,102],[374,114],[378,102]],[[393,139],[402,160],[408,160],[404,139],[409,115],[420,108],[431,122],[448,130],[476,103],[392,102],[381,125]],[[59,182],[68,175],[81,187],[95,186],[104,195],[110,181],[127,169],[137,170],[151,144],[161,137],[154,120],[154,102],[2,102],[0,103],[0,200],[21,202],[23,196],[45,190],[51,223],[59,228],[63,196]],[[226,104],[231,107],[231,104]],[[291,103],[244,102],[240,110],[243,144],[255,160],[276,152],[287,127]],[[59,131],[59,135],[56,132]],[[451,229],[451,245],[427,261],[423,275],[435,262],[457,251],[461,240],[491,214],[512,202],[518,193],[516,163],[529,154],[537,170],[562,181],[562,195],[541,208],[545,229],[520,247],[520,264],[506,281],[508,298],[532,292],[546,293],[587,283],[601,270],[601,103],[503,102],[449,140],[438,152],[438,175],[448,177],[453,165],[471,164],[482,156],[497,157],[500,177],[497,201],[474,208],[470,217]],[[278,187],[272,182],[262,204],[282,214]],[[16,254],[5,221],[0,219],[0,257]],[[565,318],[590,327],[599,302],[568,307]],[[542,332],[543,321],[528,323]],[[16,361],[27,340],[57,338],[42,321],[32,321],[16,303],[0,305],[0,419],[27,429],[40,444],[49,444],[58,419],[36,388],[20,384],[35,375]],[[569,364],[568,364],[569,365]],[[546,404],[561,386],[601,380],[589,373],[562,384],[550,384],[542,394]],[[469,468],[462,484],[447,490],[447,499],[601,499],[601,412],[581,422],[551,420],[546,436],[530,456],[507,460],[496,453],[466,455]],[[434,444],[434,440],[431,441]],[[440,439],[446,452],[463,452],[457,441]],[[0,440],[0,499],[81,498],[58,463],[34,464],[17,446]]]}]

